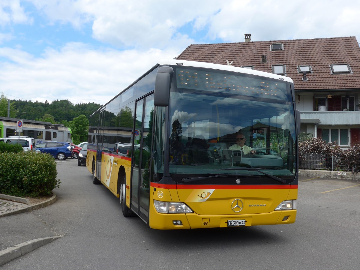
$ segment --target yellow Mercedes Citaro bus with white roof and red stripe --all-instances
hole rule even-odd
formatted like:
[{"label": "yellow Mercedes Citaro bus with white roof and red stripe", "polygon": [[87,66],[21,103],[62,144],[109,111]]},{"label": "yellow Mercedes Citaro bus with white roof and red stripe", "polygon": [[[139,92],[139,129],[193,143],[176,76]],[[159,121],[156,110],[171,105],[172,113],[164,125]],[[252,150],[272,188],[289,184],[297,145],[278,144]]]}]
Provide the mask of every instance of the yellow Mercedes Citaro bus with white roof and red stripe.
[{"label": "yellow Mercedes Citaro bus with white roof and red stripe", "polygon": [[167,60],[90,116],[86,165],[153,229],[290,224],[299,127],[291,78]]}]

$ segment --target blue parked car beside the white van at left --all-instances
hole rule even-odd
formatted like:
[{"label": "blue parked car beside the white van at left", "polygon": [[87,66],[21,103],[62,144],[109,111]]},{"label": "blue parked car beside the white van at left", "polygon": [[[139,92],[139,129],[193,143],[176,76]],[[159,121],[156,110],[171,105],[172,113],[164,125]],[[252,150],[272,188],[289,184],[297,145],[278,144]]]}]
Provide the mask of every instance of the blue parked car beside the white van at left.
[{"label": "blue parked car beside the white van at left", "polygon": [[59,160],[65,160],[72,156],[72,147],[70,143],[64,141],[46,141],[45,143],[38,143],[36,144],[36,151],[49,153]]}]

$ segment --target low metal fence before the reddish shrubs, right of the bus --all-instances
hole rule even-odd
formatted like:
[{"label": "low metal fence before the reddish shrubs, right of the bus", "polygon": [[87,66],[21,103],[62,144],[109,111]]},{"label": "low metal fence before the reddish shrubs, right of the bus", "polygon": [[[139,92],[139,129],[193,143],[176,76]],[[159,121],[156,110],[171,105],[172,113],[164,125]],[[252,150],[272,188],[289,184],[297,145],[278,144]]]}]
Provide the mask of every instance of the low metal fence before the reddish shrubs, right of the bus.
[{"label": "low metal fence before the reddish shrubs, right of the bus", "polygon": [[352,167],[342,165],[341,154],[302,153],[299,168],[304,170],[352,171]]}]

